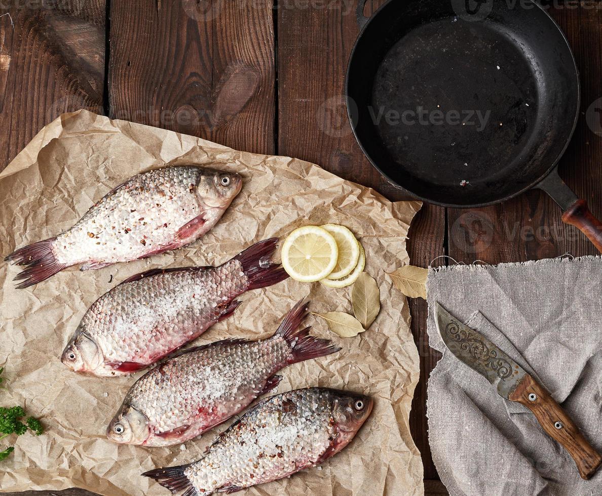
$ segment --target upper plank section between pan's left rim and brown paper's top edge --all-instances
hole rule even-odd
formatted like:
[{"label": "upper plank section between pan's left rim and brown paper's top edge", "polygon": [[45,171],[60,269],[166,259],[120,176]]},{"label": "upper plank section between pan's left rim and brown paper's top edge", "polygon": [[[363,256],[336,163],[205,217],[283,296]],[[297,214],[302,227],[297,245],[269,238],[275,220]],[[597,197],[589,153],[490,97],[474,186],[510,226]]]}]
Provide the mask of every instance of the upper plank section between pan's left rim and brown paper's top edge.
[{"label": "upper plank section between pan's left rim and brown paper's top edge", "polygon": [[355,1],[287,5],[278,9],[279,155],[401,198],[361,153],[347,118],[344,81],[358,35]]}]

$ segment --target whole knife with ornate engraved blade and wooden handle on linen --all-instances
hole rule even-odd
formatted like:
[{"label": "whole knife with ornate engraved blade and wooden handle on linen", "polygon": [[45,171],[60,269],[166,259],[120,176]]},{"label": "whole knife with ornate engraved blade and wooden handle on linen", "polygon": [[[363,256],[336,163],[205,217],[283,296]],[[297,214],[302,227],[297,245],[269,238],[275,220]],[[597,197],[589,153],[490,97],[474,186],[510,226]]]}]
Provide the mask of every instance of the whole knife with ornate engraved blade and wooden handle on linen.
[{"label": "whole knife with ornate engraved blade and wooden handle on linen", "polygon": [[558,441],[577,464],[582,479],[593,476],[600,454],[545,388],[485,336],[464,325],[438,302],[435,323],[447,349],[497,388],[507,400],[521,403],[535,414],[548,436]]}]

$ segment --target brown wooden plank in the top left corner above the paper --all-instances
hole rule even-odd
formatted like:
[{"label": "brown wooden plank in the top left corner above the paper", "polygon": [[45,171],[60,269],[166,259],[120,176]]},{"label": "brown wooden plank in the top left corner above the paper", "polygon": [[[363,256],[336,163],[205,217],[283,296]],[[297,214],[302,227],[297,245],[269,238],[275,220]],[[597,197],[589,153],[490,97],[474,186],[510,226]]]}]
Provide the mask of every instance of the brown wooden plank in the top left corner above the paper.
[{"label": "brown wooden plank in the top left corner above the paper", "polygon": [[61,113],[102,114],[105,0],[2,2],[0,15],[2,170]]}]

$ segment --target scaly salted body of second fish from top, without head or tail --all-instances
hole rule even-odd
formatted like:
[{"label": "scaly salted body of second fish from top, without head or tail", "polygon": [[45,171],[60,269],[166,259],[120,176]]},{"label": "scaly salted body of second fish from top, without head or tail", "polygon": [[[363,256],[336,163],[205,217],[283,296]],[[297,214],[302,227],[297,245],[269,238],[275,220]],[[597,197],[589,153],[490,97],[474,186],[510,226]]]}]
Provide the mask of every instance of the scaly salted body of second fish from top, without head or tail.
[{"label": "scaly salted body of second fish from top, without head or tail", "polygon": [[[117,286],[85,314],[78,331],[96,341],[105,361],[152,363],[216,321],[216,308],[246,288],[249,281],[240,273],[240,262],[231,261]],[[138,343],[147,343],[144,352]]]}]

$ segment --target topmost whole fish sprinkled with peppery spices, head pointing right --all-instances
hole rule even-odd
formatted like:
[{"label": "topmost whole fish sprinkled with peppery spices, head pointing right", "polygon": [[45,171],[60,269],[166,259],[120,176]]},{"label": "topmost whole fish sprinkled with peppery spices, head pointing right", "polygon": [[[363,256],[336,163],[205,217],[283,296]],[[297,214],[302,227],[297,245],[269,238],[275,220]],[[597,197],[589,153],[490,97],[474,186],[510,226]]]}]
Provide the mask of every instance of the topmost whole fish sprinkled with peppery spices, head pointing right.
[{"label": "topmost whole fish sprinkled with peppery spices, head pointing right", "polygon": [[73,227],[5,260],[25,266],[15,278],[25,288],[73,265],[86,271],[175,250],[216,225],[241,186],[238,174],[191,165],[138,174]]}]

